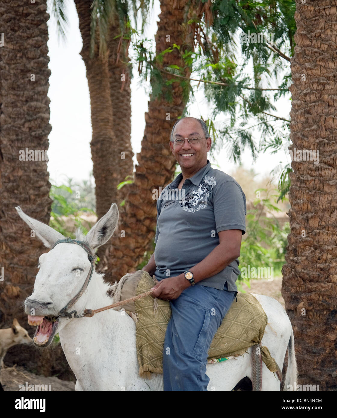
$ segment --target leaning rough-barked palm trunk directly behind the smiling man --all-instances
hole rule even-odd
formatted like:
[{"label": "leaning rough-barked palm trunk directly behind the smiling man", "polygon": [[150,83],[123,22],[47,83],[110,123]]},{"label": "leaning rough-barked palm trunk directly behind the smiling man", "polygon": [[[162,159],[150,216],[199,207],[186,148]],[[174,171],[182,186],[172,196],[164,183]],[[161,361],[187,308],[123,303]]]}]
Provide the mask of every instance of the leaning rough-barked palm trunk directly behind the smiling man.
[{"label": "leaning rough-barked palm trunk directly behind the smiling man", "polygon": [[[162,66],[176,64],[184,66],[181,58],[184,52],[194,48],[193,37],[186,33],[184,21],[189,0],[168,5],[161,1],[160,21],[157,23],[156,54],[161,53],[173,43],[181,46],[165,54]],[[188,25],[186,25],[188,28]],[[171,34],[169,41],[167,35]],[[191,74],[186,68],[185,75]],[[165,74],[163,74],[165,77]],[[167,79],[171,79],[168,76]],[[140,153],[137,155],[134,183],[129,188],[125,203],[125,212],[120,214],[119,232],[115,231],[109,252],[103,257],[105,278],[108,281],[119,280],[128,271],[134,270],[141,262],[144,252],[151,249],[151,242],[156,228],[156,201],[153,189],[165,186],[174,174],[175,159],[169,148],[169,139],[174,122],[183,113],[188,99],[186,90],[174,77],[172,84],[173,102],[163,95],[150,97],[148,112],[145,113],[146,127]],[[186,89],[189,88],[185,87]]]}]

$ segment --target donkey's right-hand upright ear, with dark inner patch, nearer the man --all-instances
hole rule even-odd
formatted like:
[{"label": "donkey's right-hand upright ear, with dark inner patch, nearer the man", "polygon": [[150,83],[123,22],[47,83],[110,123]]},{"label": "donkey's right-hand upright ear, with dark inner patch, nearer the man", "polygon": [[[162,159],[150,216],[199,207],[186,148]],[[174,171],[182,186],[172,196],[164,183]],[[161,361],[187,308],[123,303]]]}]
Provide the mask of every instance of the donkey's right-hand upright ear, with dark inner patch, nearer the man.
[{"label": "donkey's right-hand upright ear, with dark inner patch, nearer the man", "polygon": [[109,212],[105,214],[87,233],[85,241],[92,250],[107,242],[118,223],[118,208],[115,203],[110,206]]}]

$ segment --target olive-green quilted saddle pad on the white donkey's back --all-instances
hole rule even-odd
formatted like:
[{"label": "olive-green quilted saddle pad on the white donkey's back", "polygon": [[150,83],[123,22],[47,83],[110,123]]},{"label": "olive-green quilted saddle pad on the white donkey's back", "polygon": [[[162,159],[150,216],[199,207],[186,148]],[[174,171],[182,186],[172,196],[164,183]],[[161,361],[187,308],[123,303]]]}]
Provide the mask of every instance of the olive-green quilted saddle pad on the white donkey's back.
[{"label": "olive-green quilted saddle pad on the white donkey's back", "polygon": [[[113,303],[123,301],[149,291],[155,282],[151,276],[138,270],[123,276],[110,288]],[[168,301],[146,296],[120,307],[133,316],[136,322],[136,346],[139,375],[151,377],[151,373],[163,372],[163,344],[166,327],[171,318]],[[227,315],[214,336],[208,352],[208,362],[215,363],[243,355],[253,345],[260,347],[262,360],[271,372],[280,373],[278,365],[261,340],[268,318],[260,303],[250,293],[237,295]]]}]

